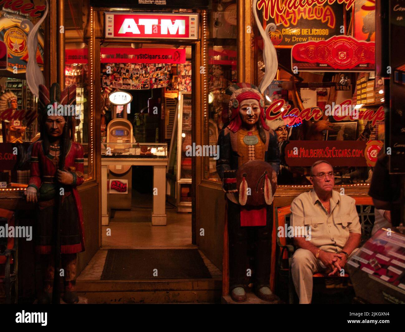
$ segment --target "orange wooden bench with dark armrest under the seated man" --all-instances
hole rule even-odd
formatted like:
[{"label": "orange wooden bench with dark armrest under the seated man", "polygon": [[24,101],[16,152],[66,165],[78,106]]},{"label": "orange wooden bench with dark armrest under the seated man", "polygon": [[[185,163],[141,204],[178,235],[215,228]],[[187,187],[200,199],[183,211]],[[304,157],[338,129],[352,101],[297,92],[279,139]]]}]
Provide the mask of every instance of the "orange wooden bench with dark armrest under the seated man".
[{"label": "orange wooden bench with dark armrest under the seated man", "polygon": [[[371,197],[353,197],[356,201],[356,208],[358,210],[359,218],[360,218],[360,224],[362,228],[362,240],[360,242],[360,246],[368,240],[371,236],[371,229],[373,226],[373,223],[370,221],[369,216],[371,214],[371,209],[366,208],[363,209],[362,206],[373,206],[373,200]],[[360,207],[360,208],[358,208]],[[291,276],[291,263],[292,263],[292,255],[294,254],[295,248],[294,244],[292,242],[291,238],[286,238],[284,236],[278,236],[278,227],[282,226],[283,229],[285,227],[288,227],[290,225],[290,220],[288,216],[291,214],[290,210],[291,206],[284,206],[282,208],[277,208],[275,211],[275,223],[273,227],[273,242],[274,237],[276,238],[276,243],[277,246],[279,247],[280,253],[276,254],[276,248],[273,246],[273,252],[275,257],[277,255],[277,269],[278,273],[281,274],[281,276],[288,277],[288,303],[292,304],[294,302],[294,292],[295,292],[295,287],[292,283],[292,276]],[[287,226],[286,226],[287,225]],[[284,235],[284,234],[283,234]],[[275,265],[275,264],[272,264]],[[275,266],[272,266],[272,270]],[[274,274],[271,280],[274,281]],[[313,275],[314,278],[331,278],[328,276],[326,273],[315,273]],[[336,276],[340,277],[341,276]],[[344,278],[348,278],[349,275],[345,273]],[[274,290],[274,286],[272,287]]]}]

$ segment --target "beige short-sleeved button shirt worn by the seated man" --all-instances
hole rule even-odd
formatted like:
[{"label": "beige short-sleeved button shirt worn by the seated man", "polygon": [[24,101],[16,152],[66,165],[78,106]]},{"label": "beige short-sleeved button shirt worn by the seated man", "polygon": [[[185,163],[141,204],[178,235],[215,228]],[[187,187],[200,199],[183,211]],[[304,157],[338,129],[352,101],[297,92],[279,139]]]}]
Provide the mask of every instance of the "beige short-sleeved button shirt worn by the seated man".
[{"label": "beige short-sleeved button shirt worn by the seated man", "polygon": [[330,214],[315,190],[302,193],[291,203],[291,226],[311,226],[311,244],[328,252],[340,252],[350,233],[360,233],[355,200],[332,191]]}]

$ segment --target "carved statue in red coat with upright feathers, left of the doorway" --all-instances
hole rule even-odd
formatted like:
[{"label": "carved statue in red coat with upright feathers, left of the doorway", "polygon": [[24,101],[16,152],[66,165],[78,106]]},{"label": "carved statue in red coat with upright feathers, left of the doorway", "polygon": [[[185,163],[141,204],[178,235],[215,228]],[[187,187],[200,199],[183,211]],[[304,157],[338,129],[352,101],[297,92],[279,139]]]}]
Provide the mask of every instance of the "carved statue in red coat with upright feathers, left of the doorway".
[{"label": "carved statue in red coat with upright feathers, left of the doorway", "polygon": [[[77,186],[84,179],[83,147],[74,141],[73,116],[57,115],[61,113],[56,111],[75,103],[76,86],[69,86],[62,92],[56,83],[50,91],[39,86],[40,140],[32,147],[31,176],[26,190],[27,201],[38,203],[35,248],[41,257],[44,286],[38,296],[39,303],[51,301],[54,274],[60,274],[54,272],[59,264],[55,264],[55,257],[58,257],[54,255],[55,247],[60,249],[64,271],[64,301],[78,301],[76,260],[77,253],[85,250],[83,214],[77,192]],[[58,218],[60,228],[55,229]],[[56,242],[55,238],[59,241]]]}]

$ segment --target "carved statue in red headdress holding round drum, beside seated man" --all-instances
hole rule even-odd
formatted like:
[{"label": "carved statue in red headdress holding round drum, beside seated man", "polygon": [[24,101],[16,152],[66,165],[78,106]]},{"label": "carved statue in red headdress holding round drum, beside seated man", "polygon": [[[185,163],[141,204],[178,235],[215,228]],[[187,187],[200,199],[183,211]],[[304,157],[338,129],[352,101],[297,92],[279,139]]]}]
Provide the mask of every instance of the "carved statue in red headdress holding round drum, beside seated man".
[{"label": "carved statue in red headdress holding round drum, beside seated man", "polygon": [[262,300],[275,301],[269,283],[271,204],[280,163],[277,135],[266,125],[263,96],[256,86],[233,84],[226,94],[230,121],[218,137],[217,172],[226,192],[229,291],[234,301],[247,299],[247,253],[252,247],[254,291]]}]

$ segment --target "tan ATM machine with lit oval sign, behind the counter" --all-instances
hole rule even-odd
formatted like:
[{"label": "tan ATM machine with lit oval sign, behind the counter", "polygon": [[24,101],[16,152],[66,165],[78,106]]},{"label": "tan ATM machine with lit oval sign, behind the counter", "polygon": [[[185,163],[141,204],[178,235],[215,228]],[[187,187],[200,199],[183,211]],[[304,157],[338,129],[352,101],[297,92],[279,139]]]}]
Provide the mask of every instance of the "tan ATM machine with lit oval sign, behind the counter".
[{"label": "tan ATM machine with lit oval sign, behind the counter", "polygon": [[[124,100],[123,98],[117,98],[117,94],[126,94],[127,98]],[[127,120],[132,96],[124,91],[116,91],[110,94],[109,99],[113,105],[113,119],[107,125],[107,149],[111,149],[111,154],[119,154],[131,147],[128,144],[135,143],[132,124]],[[128,99],[129,101],[127,101]],[[126,102],[126,104],[123,104],[123,102]],[[120,165],[119,163],[110,165],[108,178],[109,208],[130,210],[132,199],[132,166]]]}]

